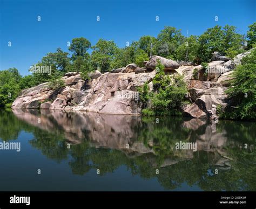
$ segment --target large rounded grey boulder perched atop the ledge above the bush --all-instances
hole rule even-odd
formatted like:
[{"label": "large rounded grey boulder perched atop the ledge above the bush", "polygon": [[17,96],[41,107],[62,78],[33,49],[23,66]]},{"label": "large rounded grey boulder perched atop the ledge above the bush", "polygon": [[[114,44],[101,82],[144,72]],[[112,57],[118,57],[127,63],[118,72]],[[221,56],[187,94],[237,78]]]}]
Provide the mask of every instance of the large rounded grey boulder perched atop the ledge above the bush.
[{"label": "large rounded grey boulder perched atop the ledge above the bush", "polygon": [[179,64],[176,61],[173,61],[171,59],[166,59],[157,55],[154,55],[150,58],[150,60],[146,63],[146,68],[156,69],[157,61],[160,61],[162,65],[164,65],[164,69],[170,70],[170,69],[178,69]]}]

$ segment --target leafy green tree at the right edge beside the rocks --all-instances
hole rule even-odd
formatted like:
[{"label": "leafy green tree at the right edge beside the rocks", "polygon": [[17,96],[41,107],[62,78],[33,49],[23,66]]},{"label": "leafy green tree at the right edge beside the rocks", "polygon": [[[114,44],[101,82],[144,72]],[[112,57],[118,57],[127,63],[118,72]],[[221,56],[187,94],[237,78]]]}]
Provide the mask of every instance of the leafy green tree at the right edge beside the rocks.
[{"label": "leafy green tree at the right edge beside the rocks", "polygon": [[232,87],[227,89],[232,106],[219,108],[219,115],[224,119],[256,119],[256,50],[242,58],[241,65],[233,72]]}]

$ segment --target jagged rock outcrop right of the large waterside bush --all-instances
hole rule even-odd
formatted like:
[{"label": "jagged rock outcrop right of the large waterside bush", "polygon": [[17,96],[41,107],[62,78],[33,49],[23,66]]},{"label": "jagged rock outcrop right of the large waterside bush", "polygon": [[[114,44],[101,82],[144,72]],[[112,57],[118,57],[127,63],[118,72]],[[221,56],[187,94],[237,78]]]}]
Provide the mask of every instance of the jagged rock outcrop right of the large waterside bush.
[{"label": "jagged rock outcrop right of the large waterside bush", "polygon": [[[218,118],[216,113],[217,106],[226,106],[228,103],[225,90],[231,85],[230,81],[233,79],[232,69],[235,65],[239,65],[241,58],[248,53],[250,52],[238,54],[232,65],[231,60],[226,61],[226,58],[214,53],[213,60],[218,59],[208,63],[206,69],[201,65],[179,67],[177,71],[184,75],[185,81],[188,83],[189,98],[193,102],[190,107],[184,110],[183,115],[216,120]],[[198,80],[193,80],[192,72],[194,69],[198,71]]]}]

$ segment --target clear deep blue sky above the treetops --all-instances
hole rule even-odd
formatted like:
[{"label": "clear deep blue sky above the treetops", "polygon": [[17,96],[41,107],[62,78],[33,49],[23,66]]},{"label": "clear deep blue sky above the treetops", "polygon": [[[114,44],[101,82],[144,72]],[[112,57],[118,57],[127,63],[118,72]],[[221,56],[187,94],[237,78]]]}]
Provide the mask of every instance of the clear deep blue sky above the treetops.
[{"label": "clear deep blue sky above the treetops", "polygon": [[200,35],[214,25],[229,24],[245,34],[255,22],[255,2],[0,0],[0,70],[16,67],[27,75],[46,53],[57,47],[68,51],[67,42],[76,37],[85,37],[92,45],[99,38],[114,40],[124,47],[126,41],[144,35],[157,37],[164,26],[181,29],[184,35],[187,30],[188,35]]}]

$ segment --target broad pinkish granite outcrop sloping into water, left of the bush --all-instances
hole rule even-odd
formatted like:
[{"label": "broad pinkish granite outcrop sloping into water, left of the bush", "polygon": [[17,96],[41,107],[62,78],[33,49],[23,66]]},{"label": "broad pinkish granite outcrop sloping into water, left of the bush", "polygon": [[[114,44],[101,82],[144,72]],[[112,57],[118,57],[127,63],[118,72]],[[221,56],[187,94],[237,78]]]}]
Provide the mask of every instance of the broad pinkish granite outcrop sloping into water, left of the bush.
[{"label": "broad pinkish granite outcrop sloping into water, left of the bush", "polygon": [[48,83],[26,89],[12,108],[41,108],[51,110],[82,110],[104,114],[140,114],[137,87],[150,82],[156,72],[134,73],[133,64],[124,68],[126,73],[89,73],[84,81],[77,72],[66,73],[62,78],[65,87],[50,89]]}]

